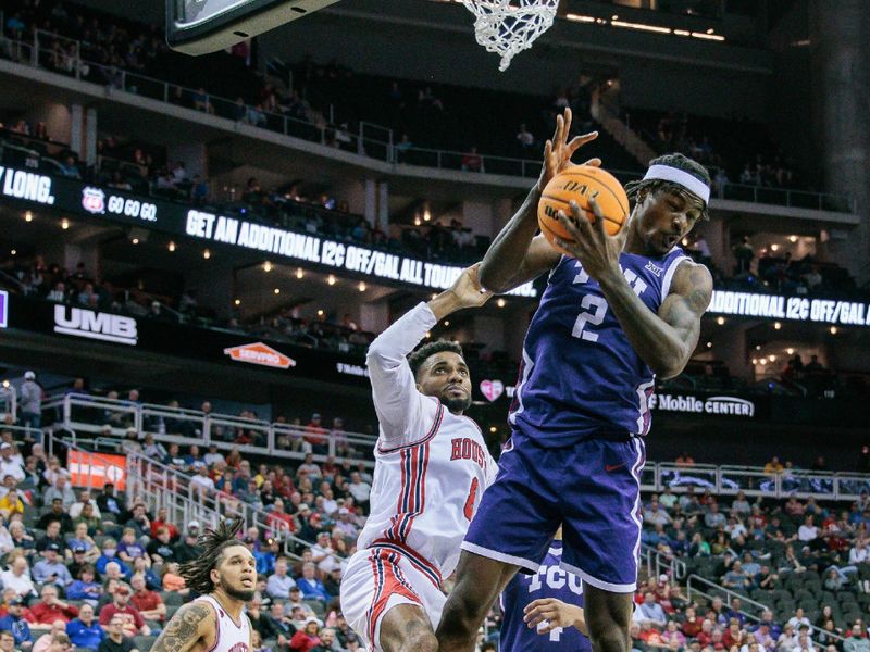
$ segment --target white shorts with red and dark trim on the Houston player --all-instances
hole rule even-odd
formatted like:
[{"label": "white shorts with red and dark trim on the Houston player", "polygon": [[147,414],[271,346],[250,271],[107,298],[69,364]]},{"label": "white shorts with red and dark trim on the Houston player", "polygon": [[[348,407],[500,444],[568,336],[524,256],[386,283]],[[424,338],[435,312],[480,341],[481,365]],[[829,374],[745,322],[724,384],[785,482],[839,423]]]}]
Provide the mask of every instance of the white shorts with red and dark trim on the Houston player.
[{"label": "white shorts with red and dark trim on the Houston player", "polygon": [[415,604],[428,616],[433,631],[442,619],[446,597],[440,575],[428,562],[397,544],[357,551],[341,578],[341,613],[369,652],[381,651],[381,622],[398,604]]}]

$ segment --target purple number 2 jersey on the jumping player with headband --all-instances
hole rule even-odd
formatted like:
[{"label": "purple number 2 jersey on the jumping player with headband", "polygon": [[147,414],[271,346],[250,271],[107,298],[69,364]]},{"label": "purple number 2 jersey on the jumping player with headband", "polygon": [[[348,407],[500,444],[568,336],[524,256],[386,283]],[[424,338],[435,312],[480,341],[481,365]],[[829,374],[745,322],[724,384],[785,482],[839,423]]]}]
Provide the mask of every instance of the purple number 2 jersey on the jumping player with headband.
[{"label": "purple number 2 jersey on the jumping player with headband", "polygon": [[[622,253],[620,266],[644,304],[658,312],[686,258],[679,247],[660,259]],[[598,281],[563,255],[525,335],[510,424],[544,447],[594,435],[643,436],[654,387],[655,374],[629,342]]]}]

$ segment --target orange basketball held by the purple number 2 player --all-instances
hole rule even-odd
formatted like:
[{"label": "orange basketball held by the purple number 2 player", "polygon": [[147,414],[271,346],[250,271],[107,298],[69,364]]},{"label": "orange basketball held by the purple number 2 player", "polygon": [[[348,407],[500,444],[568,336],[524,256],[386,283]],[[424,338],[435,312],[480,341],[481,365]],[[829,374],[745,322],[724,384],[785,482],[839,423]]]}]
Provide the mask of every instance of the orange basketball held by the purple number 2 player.
[{"label": "orange basketball held by the purple number 2 player", "polygon": [[554,249],[570,255],[556,244],[555,240],[559,238],[571,241],[571,235],[558,217],[559,211],[571,215],[569,205],[571,200],[576,201],[586,218],[593,224],[595,223],[595,215],[588,203],[589,197],[596,198],[598,206],[605,215],[605,230],[614,236],[622,229],[629,218],[629,197],[625,195],[622,184],[617,177],[600,167],[572,165],[550,179],[550,183],[544,188],[537,205],[537,222],[540,233]]}]

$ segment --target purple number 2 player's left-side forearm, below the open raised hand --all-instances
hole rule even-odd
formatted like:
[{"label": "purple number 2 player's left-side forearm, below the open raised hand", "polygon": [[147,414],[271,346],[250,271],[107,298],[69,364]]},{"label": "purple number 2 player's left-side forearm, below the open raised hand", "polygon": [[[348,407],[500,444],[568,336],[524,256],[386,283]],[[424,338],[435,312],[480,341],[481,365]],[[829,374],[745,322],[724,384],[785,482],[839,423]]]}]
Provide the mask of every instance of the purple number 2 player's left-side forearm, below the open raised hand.
[{"label": "purple number 2 player's left-side forearm, below the open raised hand", "polygon": [[510,218],[486,250],[481,263],[481,285],[493,292],[505,292],[513,286],[532,238],[537,233],[537,184],[529,192],[520,210]]}]

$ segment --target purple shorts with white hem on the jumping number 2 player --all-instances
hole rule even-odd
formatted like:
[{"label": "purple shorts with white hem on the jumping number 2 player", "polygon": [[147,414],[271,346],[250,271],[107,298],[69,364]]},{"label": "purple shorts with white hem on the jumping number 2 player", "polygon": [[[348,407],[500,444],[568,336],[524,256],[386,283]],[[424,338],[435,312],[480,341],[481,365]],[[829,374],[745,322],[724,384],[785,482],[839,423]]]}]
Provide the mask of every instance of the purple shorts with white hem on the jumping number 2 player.
[{"label": "purple shorts with white hem on the jumping number 2 player", "polygon": [[514,432],[462,549],[536,573],[562,526],[561,566],[589,586],[637,587],[643,439],[542,448]]}]

